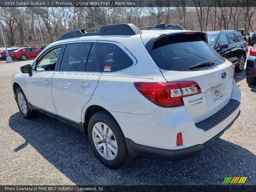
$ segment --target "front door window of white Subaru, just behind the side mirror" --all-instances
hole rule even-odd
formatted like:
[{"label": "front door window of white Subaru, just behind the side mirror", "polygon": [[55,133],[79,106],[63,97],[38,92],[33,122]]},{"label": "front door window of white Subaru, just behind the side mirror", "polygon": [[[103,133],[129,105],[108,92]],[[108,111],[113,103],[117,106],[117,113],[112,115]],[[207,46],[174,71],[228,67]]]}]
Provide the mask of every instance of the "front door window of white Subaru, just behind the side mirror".
[{"label": "front door window of white Subaru, just behind the side mirror", "polygon": [[55,47],[47,52],[43,57],[39,58],[36,63],[37,71],[54,71],[55,65],[61,50],[61,46]]}]

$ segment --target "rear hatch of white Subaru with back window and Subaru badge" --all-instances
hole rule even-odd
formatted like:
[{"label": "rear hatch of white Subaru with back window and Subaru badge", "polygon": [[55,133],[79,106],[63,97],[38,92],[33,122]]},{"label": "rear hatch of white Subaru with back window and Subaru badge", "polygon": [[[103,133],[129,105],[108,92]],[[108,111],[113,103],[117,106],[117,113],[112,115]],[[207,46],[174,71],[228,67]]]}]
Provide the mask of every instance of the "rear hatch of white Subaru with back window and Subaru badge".
[{"label": "rear hatch of white Subaru with back window and Subaru badge", "polygon": [[199,86],[181,87],[177,94],[183,95],[184,107],[194,123],[212,116],[230,101],[234,67],[207,44],[205,33],[160,35],[145,47],[167,82],[181,82],[180,86],[184,81],[195,82]]}]

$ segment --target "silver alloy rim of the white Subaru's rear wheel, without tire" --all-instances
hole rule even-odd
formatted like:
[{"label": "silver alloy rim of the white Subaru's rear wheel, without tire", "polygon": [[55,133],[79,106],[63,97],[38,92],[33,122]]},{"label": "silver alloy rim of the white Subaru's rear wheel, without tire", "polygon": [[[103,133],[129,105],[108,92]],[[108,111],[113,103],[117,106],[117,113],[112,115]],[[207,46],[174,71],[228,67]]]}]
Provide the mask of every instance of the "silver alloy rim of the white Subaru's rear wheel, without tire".
[{"label": "silver alloy rim of the white Subaru's rear wheel, without tire", "polygon": [[105,123],[96,123],[92,129],[92,139],[99,154],[106,160],[113,160],[117,155],[116,137]]}]

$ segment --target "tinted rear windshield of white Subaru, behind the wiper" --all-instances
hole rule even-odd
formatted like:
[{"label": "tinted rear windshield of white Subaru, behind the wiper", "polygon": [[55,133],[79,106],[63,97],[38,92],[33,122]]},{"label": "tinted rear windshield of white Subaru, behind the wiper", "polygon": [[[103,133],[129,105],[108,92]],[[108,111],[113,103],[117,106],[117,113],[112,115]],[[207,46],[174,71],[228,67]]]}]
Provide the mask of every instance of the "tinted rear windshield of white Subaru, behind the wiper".
[{"label": "tinted rear windshield of white Subaru, behind the wiper", "polygon": [[[220,65],[225,59],[207,44],[202,35],[172,35],[156,41],[151,52],[151,57],[156,65],[169,71],[194,71]],[[200,65],[213,61],[211,65]]]}]

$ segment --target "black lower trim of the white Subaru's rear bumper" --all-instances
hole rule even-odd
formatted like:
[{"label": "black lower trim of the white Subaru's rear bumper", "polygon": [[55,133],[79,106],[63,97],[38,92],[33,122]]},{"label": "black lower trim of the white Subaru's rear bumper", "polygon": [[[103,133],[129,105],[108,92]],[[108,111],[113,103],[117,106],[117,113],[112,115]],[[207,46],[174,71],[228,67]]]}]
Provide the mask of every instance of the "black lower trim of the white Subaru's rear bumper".
[{"label": "black lower trim of the white Subaru's rear bumper", "polygon": [[236,117],[233,121],[228,124],[222,131],[212,137],[210,140],[204,142],[203,144],[197,144],[191,147],[182,148],[182,149],[163,149],[163,148],[155,148],[145,145],[140,145],[132,141],[131,139],[125,138],[125,143],[128,149],[128,153],[131,156],[146,156],[155,159],[169,160],[169,161],[179,161],[182,159],[187,159],[189,157],[193,157],[198,155],[203,148],[212,143],[212,141],[218,139],[227,129],[231,127],[231,125],[236,121],[238,116],[240,115],[240,109]]}]

